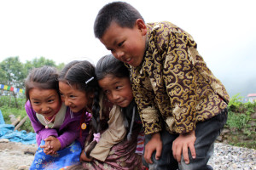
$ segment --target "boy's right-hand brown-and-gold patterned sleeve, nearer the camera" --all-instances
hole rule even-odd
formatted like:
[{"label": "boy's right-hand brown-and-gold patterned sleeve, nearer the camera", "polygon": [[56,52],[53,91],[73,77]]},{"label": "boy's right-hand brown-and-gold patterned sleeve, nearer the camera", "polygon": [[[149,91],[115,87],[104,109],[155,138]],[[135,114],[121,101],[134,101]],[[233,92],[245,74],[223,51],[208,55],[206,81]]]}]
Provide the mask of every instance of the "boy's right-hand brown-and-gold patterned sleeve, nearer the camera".
[{"label": "boy's right-hand brown-and-gold patterned sleeve, nearer the camera", "polygon": [[171,100],[173,131],[189,133],[195,129],[196,79],[193,59],[196,43],[186,32],[172,35],[163,68],[166,91]]}]

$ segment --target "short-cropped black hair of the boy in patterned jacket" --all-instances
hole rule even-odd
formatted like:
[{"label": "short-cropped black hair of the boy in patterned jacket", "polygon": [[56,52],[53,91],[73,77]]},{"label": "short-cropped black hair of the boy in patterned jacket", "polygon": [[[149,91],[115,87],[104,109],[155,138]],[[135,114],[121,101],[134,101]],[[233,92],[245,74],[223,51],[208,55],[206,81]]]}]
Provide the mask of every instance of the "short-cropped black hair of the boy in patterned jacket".
[{"label": "short-cropped black hair of the boy in patterned jacket", "polygon": [[112,21],[121,27],[133,28],[137,19],[143,20],[143,17],[131,4],[125,2],[108,3],[96,16],[94,22],[95,37],[102,38]]}]

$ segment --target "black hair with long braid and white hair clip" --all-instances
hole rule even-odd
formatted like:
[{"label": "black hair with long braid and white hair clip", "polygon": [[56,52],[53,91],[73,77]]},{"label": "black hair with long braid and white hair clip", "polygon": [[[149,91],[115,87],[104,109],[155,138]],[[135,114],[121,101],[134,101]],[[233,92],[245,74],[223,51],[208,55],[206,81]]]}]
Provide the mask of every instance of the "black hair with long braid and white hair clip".
[{"label": "black hair with long braid and white hair clip", "polygon": [[[99,133],[101,130],[100,124],[100,105],[99,105],[99,93],[100,88],[96,80],[95,66],[89,61],[78,61],[74,60],[68,63],[59,75],[59,82],[66,82],[80,91],[84,91],[86,96],[94,94],[94,99],[92,102],[92,128],[90,129],[90,137],[93,137],[93,133]],[[85,106],[84,106],[85,107]],[[87,138],[85,144],[89,144],[90,138]],[[90,144],[91,147],[86,151],[90,155],[90,151],[95,147],[96,141]]]}]

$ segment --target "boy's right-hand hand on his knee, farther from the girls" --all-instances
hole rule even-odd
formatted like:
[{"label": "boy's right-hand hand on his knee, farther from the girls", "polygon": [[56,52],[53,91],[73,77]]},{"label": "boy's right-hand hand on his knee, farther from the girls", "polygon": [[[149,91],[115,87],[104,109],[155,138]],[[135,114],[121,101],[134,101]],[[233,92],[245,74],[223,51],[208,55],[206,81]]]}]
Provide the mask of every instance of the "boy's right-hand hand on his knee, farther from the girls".
[{"label": "boy's right-hand hand on his knee, farther from the girls", "polygon": [[[172,154],[173,157],[180,162],[181,154],[183,153],[183,158],[186,164],[189,164],[189,150],[192,157],[195,159],[195,131],[186,134],[180,134],[177,139],[173,141],[172,144]],[[189,150],[188,150],[189,148]]]}]

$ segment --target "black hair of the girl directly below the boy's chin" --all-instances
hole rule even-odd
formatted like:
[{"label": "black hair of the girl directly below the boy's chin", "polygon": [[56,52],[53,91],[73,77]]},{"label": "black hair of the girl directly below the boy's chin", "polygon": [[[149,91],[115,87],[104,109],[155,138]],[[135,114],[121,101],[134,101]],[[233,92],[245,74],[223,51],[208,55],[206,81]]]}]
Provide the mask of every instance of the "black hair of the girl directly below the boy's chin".
[{"label": "black hair of the girl directly below the boy's chin", "polygon": [[107,75],[113,75],[113,77],[130,77],[129,71],[125,64],[113,57],[113,54],[103,56],[96,65],[96,77],[97,80],[101,80]]}]

